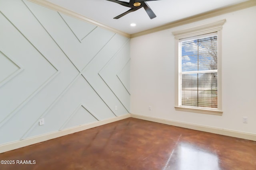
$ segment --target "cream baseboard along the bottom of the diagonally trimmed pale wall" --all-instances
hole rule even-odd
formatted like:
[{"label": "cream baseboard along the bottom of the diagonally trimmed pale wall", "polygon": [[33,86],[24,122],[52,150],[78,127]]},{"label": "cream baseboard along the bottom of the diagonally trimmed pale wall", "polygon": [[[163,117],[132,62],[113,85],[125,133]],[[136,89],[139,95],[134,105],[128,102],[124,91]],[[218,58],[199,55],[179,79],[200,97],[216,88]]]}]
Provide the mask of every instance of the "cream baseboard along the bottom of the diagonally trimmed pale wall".
[{"label": "cream baseboard along the bottom of the diagonally trimmed pale wall", "polygon": [[90,128],[97,127],[97,126],[100,126],[100,125],[105,125],[107,123],[112,123],[114,121],[119,121],[119,120],[122,120],[122,119],[126,119],[128,117],[131,117],[130,113],[125,114],[125,115],[121,115],[121,116],[118,116],[118,117],[113,117],[113,118],[110,118],[110,119],[105,119],[105,120],[102,120],[102,121],[86,124],[86,125],[81,125],[81,126],[72,127],[72,128],[69,128],[69,129],[64,129],[64,130],[53,132],[53,133],[48,133],[48,134],[45,134],[45,135],[40,135],[40,136],[37,136],[37,137],[32,137],[32,138],[12,142],[12,143],[7,143],[7,144],[4,144],[4,145],[0,145],[0,153],[6,152],[6,151],[9,151],[9,150],[18,149],[18,148],[21,148],[21,147],[26,147],[28,145],[32,145],[32,144],[35,144],[35,143],[40,143],[40,142],[47,141],[47,140],[50,140],[50,139],[54,139],[54,138],[57,138],[57,137],[69,135],[71,133],[84,131],[86,129],[90,129]]}]

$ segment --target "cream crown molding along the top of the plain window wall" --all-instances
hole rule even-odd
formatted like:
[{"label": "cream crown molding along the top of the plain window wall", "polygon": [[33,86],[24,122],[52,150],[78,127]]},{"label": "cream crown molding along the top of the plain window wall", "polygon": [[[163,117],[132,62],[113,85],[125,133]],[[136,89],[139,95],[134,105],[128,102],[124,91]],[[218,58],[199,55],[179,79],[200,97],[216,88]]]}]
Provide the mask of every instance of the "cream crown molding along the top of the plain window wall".
[{"label": "cream crown molding along the top of the plain window wall", "polygon": [[201,14],[190,16],[188,18],[173,21],[173,22],[170,22],[168,24],[165,24],[165,25],[162,25],[162,26],[159,26],[159,27],[155,27],[155,28],[152,28],[152,29],[147,29],[145,31],[141,31],[141,32],[138,32],[138,33],[131,34],[131,38],[139,37],[139,36],[142,36],[142,35],[158,32],[158,31],[162,31],[162,30],[165,30],[165,29],[170,29],[170,28],[173,28],[173,27],[177,27],[177,26],[180,26],[180,25],[185,25],[185,24],[200,21],[200,20],[205,20],[207,18],[220,16],[222,14],[227,14],[227,13],[242,10],[242,9],[245,9],[245,8],[250,8],[252,6],[256,6],[256,0],[249,0],[249,1],[246,1],[246,2],[242,2],[240,4],[236,4],[236,5],[232,5],[232,6],[228,6],[228,7],[224,7],[224,8],[219,8],[219,9],[216,9],[216,10],[211,10],[211,11],[208,11],[208,12],[204,12],[204,13],[201,13]]}]

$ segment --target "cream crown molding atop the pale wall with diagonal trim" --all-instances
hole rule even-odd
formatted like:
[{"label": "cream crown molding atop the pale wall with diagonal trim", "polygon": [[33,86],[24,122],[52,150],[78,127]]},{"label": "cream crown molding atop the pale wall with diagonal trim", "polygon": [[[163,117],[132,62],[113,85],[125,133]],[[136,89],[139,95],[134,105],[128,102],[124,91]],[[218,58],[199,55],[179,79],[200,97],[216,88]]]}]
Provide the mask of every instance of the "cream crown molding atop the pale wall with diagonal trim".
[{"label": "cream crown molding atop the pale wall with diagonal trim", "polygon": [[77,14],[76,12],[70,11],[70,10],[68,10],[68,9],[66,9],[66,8],[63,8],[63,7],[61,7],[61,6],[58,6],[58,5],[56,5],[56,4],[53,4],[53,3],[48,2],[48,1],[46,1],[46,0],[29,0],[29,1],[30,1],[30,2],[34,2],[34,3],[36,3],[36,4],[39,4],[39,5],[41,5],[41,6],[44,6],[44,7],[46,7],[46,8],[49,8],[49,9],[51,9],[51,10],[58,11],[58,12],[61,12],[61,13],[63,13],[63,14],[66,14],[66,15],[68,15],[68,16],[77,18],[78,20],[82,20],[82,21],[91,23],[91,24],[96,25],[96,26],[98,26],[98,27],[102,27],[102,28],[107,29],[107,30],[109,30],[109,31],[112,31],[112,32],[114,32],[114,33],[118,33],[118,34],[120,34],[120,35],[123,35],[124,37],[130,38],[130,34],[128,34],[128,33],[119,31],[119,30],[117,30],[117,29],[114,29],[114,28],[112,28],[112,27],[109,27],[109,26],[107,26],[107,25],[104,25],[104,24],[102,24],[102,23],[99,23],[99,22],[97,22],[97,21],[91,20],[90,18],[87,18],[87,17],[85,17],[85,16],[82,16],[82,15],[80,15],[80,14]]}]

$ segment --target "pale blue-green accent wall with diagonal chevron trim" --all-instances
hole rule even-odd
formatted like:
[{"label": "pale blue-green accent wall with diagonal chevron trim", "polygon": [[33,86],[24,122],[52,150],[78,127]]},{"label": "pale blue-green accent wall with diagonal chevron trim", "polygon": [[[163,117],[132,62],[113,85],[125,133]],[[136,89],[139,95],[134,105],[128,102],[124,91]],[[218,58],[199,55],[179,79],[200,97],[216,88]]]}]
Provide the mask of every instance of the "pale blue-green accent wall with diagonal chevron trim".
[{"label": "pale blue-green accent wall with diagonal chevron trim", "polygon": [[0,23],[0,145],[129,113],[130,39],[27,0]]}]

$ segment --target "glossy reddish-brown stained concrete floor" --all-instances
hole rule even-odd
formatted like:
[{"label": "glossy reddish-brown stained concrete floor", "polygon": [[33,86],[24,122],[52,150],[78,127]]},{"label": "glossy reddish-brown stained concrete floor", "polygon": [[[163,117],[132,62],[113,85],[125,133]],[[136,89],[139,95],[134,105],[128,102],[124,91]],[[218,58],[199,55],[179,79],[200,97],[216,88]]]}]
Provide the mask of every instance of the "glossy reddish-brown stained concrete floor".
[{"label": "glossy reddish-brown stained concrete floor", "polygon": [[4,152],[0,160],[31,161],[0,170],[256,170],[256,142],[128,118]]}]

